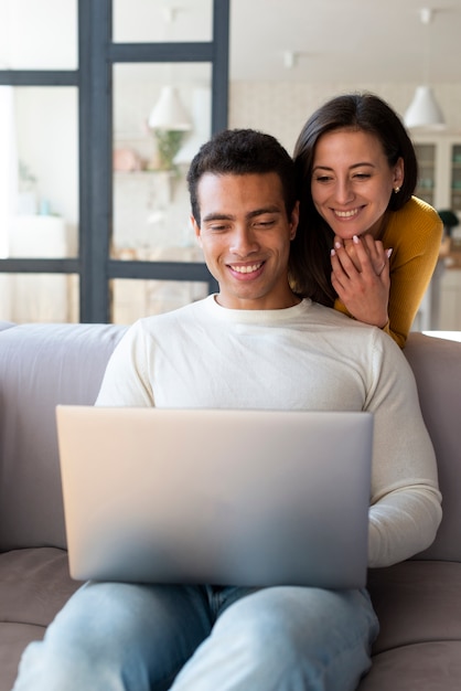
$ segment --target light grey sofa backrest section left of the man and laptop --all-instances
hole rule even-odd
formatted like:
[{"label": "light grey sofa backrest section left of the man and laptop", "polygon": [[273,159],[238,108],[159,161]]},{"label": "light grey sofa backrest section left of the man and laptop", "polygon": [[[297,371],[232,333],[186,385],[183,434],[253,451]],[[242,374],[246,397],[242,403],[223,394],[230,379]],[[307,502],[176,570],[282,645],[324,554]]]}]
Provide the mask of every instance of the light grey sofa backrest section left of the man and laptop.
[{"label": "light grey sofa backrest section left of the man and laptop", "polygon": [[124,330],[40,323],[0,330],[0,551],[65,546],[55,406],[95,402]]}]

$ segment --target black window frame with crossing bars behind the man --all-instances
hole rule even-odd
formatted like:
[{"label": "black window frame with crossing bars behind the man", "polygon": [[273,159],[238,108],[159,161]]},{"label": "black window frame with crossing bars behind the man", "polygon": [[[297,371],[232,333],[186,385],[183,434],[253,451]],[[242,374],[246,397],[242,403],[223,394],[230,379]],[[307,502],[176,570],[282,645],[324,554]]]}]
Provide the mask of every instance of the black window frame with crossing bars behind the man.
[{"label": "black window frame with crossing bars behind the man", "polygon": [[213,0],[213,35],[205,42],[114,43],[112,0],[78,0],[77,70],[3,70],[0,85],[78,89],[78,256],[0,259],[0,273],[76,274],[79,321],[110,321],[115,278],[217,284],[206,265],[110,258],[112,226],[112,67],[118,63],[203,62],[212,67],[212,134],[227,127],[229,2]]}]

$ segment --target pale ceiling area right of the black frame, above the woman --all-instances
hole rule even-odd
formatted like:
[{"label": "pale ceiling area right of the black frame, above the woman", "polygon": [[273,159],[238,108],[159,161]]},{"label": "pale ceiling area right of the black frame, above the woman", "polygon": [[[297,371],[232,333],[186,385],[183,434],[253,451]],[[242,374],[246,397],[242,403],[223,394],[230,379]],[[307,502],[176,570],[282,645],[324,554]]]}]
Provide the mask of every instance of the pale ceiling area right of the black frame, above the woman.
[{"label": "pale ceiling area right of the black frame, above the woman", "polygon": [[461,82],[461,0],[230,0],[230,17],[232,79]]}]

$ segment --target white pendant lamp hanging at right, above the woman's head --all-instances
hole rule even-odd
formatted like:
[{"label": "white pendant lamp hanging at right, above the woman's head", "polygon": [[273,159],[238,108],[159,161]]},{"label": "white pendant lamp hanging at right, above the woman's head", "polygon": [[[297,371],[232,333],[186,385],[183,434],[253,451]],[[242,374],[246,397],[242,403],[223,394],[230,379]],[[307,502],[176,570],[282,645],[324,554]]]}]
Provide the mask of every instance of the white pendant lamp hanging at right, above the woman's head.
[{"label": "white pendant lamp hanging at right, above the woman's head", "polygon": [[[429,26],[433,12],[429,8],[420,10],[419,18],[422,24]],[[404,116],[405,125],[408,129],[443,129],[444,117],[439,104],[436,100],[431,87],[428,85],[428,74],[430,64],[430,36],[429,30],[426,40],[422,41],[425,52],[425,84],[417,86],[414,99]]]}]

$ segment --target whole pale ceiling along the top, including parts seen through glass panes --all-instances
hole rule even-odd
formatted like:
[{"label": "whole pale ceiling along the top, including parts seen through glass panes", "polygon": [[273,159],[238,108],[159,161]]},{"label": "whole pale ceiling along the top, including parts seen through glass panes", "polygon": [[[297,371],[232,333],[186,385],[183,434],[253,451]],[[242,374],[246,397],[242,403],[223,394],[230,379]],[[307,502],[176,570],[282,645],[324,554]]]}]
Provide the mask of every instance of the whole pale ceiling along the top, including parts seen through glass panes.
[{"label": "whole pale ceiling along the top, including parts seen through glass panes", "polygon": [[[0,0],[0,67],[75,66],[76,3]],[[211,38],[212,0],[112,6],[116,41]],[[429,24],[420,21],[422,8],[433,10]],[[230,81],[358,87],[461,82],[461,0],[230,0],[229,73]]]}]

